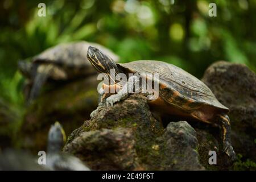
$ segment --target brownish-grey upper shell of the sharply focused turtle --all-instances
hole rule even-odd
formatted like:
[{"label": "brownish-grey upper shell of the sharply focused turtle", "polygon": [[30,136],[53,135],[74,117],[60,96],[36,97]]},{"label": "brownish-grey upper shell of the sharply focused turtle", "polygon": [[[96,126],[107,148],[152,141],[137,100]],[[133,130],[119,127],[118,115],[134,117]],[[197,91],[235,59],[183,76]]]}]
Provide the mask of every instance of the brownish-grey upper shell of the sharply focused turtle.
[{"label": "brownish-grey upper shell of the sharply focused turtle", "polygon": [[217,100],[207,85],[175,65],[151,60],[132,61],[118,65],[133,73],[158,73],[159,85],[167,85],[167,89],[170,89],[170,92],[179,92],[185,100],[193,100],[202,104],[229,110]]}]

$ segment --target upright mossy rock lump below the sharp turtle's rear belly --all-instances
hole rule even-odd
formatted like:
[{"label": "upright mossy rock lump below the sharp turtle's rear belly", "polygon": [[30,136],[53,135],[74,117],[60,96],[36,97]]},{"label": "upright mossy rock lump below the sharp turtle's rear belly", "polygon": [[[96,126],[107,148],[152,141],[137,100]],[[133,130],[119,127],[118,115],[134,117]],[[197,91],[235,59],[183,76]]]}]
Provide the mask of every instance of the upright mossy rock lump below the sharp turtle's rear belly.
[{"label": "upright mossy rock lump below the sharp turtle's rear belly", "polygon": [[170,122],[159,140],[164,160],[161,170],[202,170],[196,151],[196,131],[186,122]]}]

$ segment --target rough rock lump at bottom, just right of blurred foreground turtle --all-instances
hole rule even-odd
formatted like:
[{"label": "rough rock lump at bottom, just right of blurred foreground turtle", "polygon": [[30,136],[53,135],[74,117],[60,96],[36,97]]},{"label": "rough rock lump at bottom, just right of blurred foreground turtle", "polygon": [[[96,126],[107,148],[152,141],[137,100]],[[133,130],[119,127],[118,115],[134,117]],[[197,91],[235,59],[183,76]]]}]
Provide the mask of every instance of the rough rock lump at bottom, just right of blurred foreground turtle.
[{"label": "rough rock lump at bottom, just right of blurred foreground turtle", "polygon": [[[134,139],[131,131],[122,127],[88,131],[69,143],[65,151],[89,160],[94,169],[135,169],[138,164]],[[101,155],[100,163],[96,155]]]}]

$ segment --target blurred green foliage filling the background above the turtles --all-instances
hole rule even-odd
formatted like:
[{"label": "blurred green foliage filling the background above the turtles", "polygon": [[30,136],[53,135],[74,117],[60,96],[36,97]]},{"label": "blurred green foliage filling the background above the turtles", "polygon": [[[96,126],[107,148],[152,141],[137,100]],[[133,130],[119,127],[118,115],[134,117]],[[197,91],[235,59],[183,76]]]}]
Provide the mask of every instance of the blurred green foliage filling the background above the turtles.
[{"label": "blurred green foliage filling the background above the turtles", "polygon": [[[46,17],[38,16],[40,2]],[[211,2],[217,17],[208,15]],[[100,43],[122,62],[167,61],[199,78],[217,60],[256,70],[252,0],[3,0],[0,19],[0,92],[14,105],[23,102],[17,61],[75,40]]]}]

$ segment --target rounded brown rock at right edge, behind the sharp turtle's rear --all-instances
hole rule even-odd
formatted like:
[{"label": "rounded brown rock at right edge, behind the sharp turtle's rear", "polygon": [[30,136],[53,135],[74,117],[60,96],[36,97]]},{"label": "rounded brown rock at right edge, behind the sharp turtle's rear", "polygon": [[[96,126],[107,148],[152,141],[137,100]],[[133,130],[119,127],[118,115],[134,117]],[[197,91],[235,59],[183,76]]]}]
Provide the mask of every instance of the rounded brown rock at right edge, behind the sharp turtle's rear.
[{"label": "rounded brown rock at right edge, behind the sharp turtle's rear", "polygon": [[202,81],[229,107],[232,144],[243,159],[256,162],[256,75],[246,65],[218,61],[205,71]]}]

